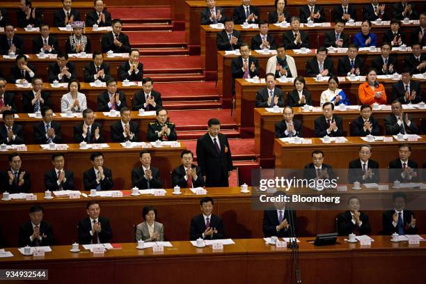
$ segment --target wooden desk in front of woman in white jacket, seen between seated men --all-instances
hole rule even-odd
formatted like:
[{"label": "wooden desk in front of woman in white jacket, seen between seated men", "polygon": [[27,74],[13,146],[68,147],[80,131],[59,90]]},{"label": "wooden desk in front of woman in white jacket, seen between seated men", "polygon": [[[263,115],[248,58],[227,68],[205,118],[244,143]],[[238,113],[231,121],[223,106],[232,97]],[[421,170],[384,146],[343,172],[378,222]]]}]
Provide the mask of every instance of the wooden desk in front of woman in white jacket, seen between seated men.
[{"label": "wooden desk in front of woman in white jacket, seen between seated men", "polygon": [[[33,125],[41,121],[42,118],[30,118],[28,113],[18,113],[17,115],[19,118],[15,118],[15,123],[24,127],[25,142],[27,144],[34,144]],[[83,118],[64,118],[60,113],[56,113],[54,120],[57,123],[61,123],[63,143],[74,143],[74,126],[81,123]],[[95,120],[97,123],[102,124],[105,141],[107,143],[111,142],[111,125],[120,120],[120,116],[111,118],[109,116],[104,116],[102,112],[97,112],[95,113]],[[138,111],[132,111],[132,120],[139,124],[139,137],[141,141],[146,141],[148,123],[155,121],[155,116],[139,116]]]}]

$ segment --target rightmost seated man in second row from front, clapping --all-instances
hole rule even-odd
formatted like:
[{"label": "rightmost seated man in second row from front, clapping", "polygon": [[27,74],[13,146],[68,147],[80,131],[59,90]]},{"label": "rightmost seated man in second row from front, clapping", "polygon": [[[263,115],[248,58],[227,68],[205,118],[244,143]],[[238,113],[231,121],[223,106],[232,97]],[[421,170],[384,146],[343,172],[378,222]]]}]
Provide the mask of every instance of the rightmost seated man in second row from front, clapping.
[{"label": "rightmost seated man in second row from front, clapping", "polygon": [[410,159],[411,145],[398,146],[399,158],[389,162],[389,182],[418,182],[418,164]]}]

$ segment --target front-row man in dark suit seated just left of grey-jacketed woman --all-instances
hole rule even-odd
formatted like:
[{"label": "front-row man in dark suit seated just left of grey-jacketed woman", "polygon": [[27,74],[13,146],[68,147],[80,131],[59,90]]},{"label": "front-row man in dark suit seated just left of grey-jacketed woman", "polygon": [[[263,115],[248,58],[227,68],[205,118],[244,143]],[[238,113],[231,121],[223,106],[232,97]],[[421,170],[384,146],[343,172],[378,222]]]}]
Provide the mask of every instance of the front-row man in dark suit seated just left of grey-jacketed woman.
[{"label": "front-row man in dark suit seated just left of grey-jacketed woman", "polygon": [[80,220],[77,228],[79,244],[104,244],[111,242],[112,230],[109,219],[100,215],[100,206],[96,200],[86,205],[87,217]]}]

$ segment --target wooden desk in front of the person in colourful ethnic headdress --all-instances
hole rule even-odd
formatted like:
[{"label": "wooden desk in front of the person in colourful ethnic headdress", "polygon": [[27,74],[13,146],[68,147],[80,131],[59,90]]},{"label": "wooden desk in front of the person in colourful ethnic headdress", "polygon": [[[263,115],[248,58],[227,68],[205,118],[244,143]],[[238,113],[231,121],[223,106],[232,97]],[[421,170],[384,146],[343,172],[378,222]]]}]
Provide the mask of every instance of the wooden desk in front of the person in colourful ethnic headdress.
[{"label": "wooden desk in front of the person in colourful ethnic headdress", "polygon": [[[32,45],[31,45],[32,50]],[[27,54],[29,56],[28,62],[33,65],[34,68],[36,68],[36,74],[38,77],[41,77],[43,81],[47,82],[49,81],[48,78],[48,68],[49,65],[56,62],[56,58],[38,58],[36,54]],[[84,82],[84,68],[86,65],[90,62],[92,62],[92,56],[86,57],[86,58],[69,58],[70,62],[74,63],[76,72],[77,72],[77,79],[79,79],[80,82]],[[107,54],[104,54],[104,62],[109,64],[109,72],[111,73],[111,77],[118,79],[118,67],[123,63],[127,61],[127,58],[108,58]],[[10,68],[12,66],[16,65],[14,59],[5,59],[3,57],[0,58],[0,72],[1,74],[10,74]],[[6,78],[9,80],[9,78]],[[9,82],[10,83],[10,82]]]}]

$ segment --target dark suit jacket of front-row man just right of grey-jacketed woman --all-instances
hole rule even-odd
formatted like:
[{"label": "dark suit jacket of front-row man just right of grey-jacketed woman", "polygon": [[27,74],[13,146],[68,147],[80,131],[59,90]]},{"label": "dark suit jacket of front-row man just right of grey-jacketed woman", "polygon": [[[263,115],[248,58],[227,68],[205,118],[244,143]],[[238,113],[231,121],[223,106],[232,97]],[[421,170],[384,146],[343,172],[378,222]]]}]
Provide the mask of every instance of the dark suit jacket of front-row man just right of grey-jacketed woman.
[{"label": "dark suit jacket of front-row man just right of grey-jacketed woman", "polygon": [[[220,216],[215,214],[210,215],[210,228],[215,228],[217,232],[211,236],[206,236],[205,239],[225,238],[223,221]],[[191,224],[189,225],[189,239],[191,239],[191,241],[195,241],[198,238],[203,238],[203,232],[205,232],[206,229],[203,214],[192,217]]]}]

